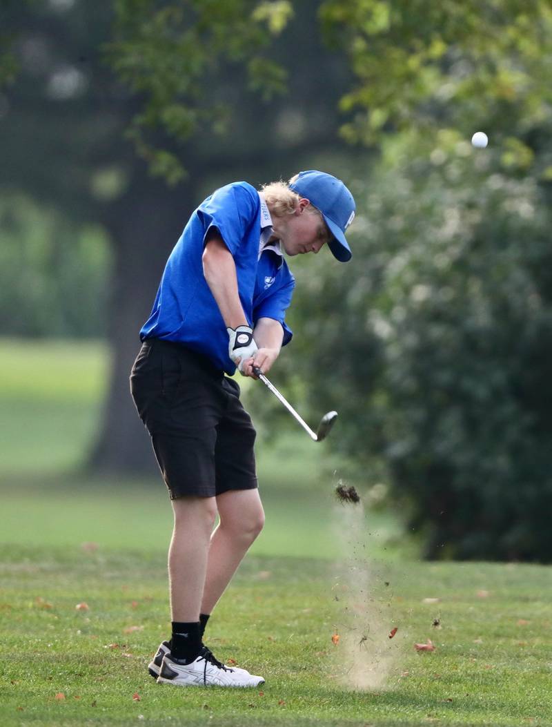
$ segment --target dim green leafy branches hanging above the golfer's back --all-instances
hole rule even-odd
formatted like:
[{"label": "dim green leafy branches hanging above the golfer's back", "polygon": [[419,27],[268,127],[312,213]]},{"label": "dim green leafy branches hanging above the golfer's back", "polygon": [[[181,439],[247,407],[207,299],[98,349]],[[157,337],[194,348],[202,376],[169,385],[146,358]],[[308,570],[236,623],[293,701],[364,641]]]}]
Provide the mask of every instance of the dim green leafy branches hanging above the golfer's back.
[{"label": "dim green leafy branches hanging above the golfer's back", "polygon": [[[198,131],[224,132],[232,97],[224,79],[245,66],[249,86],[265,100],[286,90],[287,75],[262,55],[293,15],[287,1],[118,0],[106,58],[121,81],[142,99],[127,132],[153,174],[170,184],[185,167],[175,150]],[[163,147],[155,132],[163,132]]]}]

